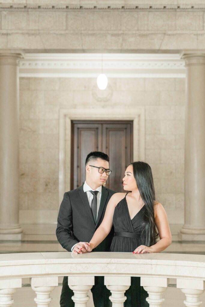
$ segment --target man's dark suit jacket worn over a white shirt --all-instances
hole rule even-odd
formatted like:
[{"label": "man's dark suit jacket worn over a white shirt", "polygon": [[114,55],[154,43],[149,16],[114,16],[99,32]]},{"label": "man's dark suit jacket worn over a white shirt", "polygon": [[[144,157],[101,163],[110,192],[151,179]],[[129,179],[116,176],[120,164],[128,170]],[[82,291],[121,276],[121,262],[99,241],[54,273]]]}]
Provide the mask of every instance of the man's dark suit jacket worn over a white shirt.
[{"label": "man's dark suit jacket worn over a white shirt", "polygon": [[[89,242],[95,230],[101,224],[105,209],[110,197],[116,192],[102,186],[101,202],[95,225],[87,193],[80,188],[64,194],[59,213],[56,229],[58,242],[67,251],[71,251],[74,244],[85,241]],[[114,235],[113,227],[109,235],[99,244],[94,251],[109,251]]]}]

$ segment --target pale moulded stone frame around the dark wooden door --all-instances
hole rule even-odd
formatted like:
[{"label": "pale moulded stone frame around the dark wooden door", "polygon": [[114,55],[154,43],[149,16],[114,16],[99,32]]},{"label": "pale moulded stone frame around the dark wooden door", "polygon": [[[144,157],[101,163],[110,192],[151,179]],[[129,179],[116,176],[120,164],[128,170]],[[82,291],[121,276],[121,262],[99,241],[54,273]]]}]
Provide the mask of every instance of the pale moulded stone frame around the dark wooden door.
[{"label": "pale moulded stone frame around the dark wooden door", "polygon": [[[93,109],[60,109],[59,110],[59,146],[58,146],[58,199],[61,204],[65,193],[65,155],[68,161],[68,183],[66,190],[70,190],[71,166],[71,121],[72,120],[133,120],[133,160],[145,159],[145,107],[129,107],[124,109],[93,108]],[[66,140],[65,140],[66,136]],[[65,148],[65,141],[68,142]]]}]

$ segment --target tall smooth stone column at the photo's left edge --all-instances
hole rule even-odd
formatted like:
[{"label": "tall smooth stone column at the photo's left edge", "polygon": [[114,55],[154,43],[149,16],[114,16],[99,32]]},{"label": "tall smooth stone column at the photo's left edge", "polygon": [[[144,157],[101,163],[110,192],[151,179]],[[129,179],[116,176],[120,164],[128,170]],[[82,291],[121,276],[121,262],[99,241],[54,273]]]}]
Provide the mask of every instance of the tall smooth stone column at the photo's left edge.
[{"label": "tall smooth stone column at the photo's left edge", "polygon": [[21,239],[19,225],[19,77],[16,53],[0,54],[0,239]]}]

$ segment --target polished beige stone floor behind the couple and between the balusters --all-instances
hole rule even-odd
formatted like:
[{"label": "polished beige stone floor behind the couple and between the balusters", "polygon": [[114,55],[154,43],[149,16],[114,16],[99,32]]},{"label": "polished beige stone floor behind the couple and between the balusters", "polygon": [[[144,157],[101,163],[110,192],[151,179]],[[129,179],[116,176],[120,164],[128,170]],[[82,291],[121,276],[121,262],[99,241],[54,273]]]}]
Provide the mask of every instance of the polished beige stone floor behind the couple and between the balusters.
[{"label": "polished beige stone floor behind the couple and between the balusters", "polygon": [[[23,252],[41,252],[41,251],[65,251],[57,242],[55,236],[56,225],[23,225],[22,242],[0,241],[0,253],[23,253]],[[164,251],[166,253],[187,253],[187,254],[203,254],[205,255],[205,242],[181,242],[177,233],[181,225],[171,225],[172,244]],[[66,251],[65,251],[66,252]],[[28,285],[28,278],[23,279],[23,287],[14,293],[15,307],[34,307],[35,293]],[[62,288],[62,278],[59,278],[59,286],[56,287],[51,296],[53,301],[50,307],[59,307],[59,299]],[[88,307],[93,307],[92,293],[89,292],[90,300]],[[177,305],[184,306],[185,299],[181,290],[176,289],[175,279],[171,280],[171,285],[164,293],[164,307]],[[205,304],[205,293],[201,296],[203,305]]]}]

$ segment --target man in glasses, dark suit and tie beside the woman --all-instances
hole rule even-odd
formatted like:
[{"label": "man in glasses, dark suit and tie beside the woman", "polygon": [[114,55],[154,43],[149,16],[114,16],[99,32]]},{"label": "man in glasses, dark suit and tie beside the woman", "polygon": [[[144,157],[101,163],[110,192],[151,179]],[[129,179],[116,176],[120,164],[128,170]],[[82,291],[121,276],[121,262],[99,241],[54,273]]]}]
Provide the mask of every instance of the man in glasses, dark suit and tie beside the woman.
[{"label": "man in glasses, dark suit and tie beside the woman", "polygon": [[[115,193],[103,186],[111,172],[108,155],[93,151],[85,160],[85,183],[80,188],[64,194],[58,214],[56,236],[67,251],[82,253],[85,249],[79,242],[89,242],[101,224],[108,201]],[[113,234],[112,229],[94,251],[109,251]],[[95,285],[91,291],[95,307],[111,305],[110,292],[104,286],[103,276],[95,277]],[[64,277],[61,307],[74,307],[72,296],[73,291],[68,286],[68,277]]]}]

